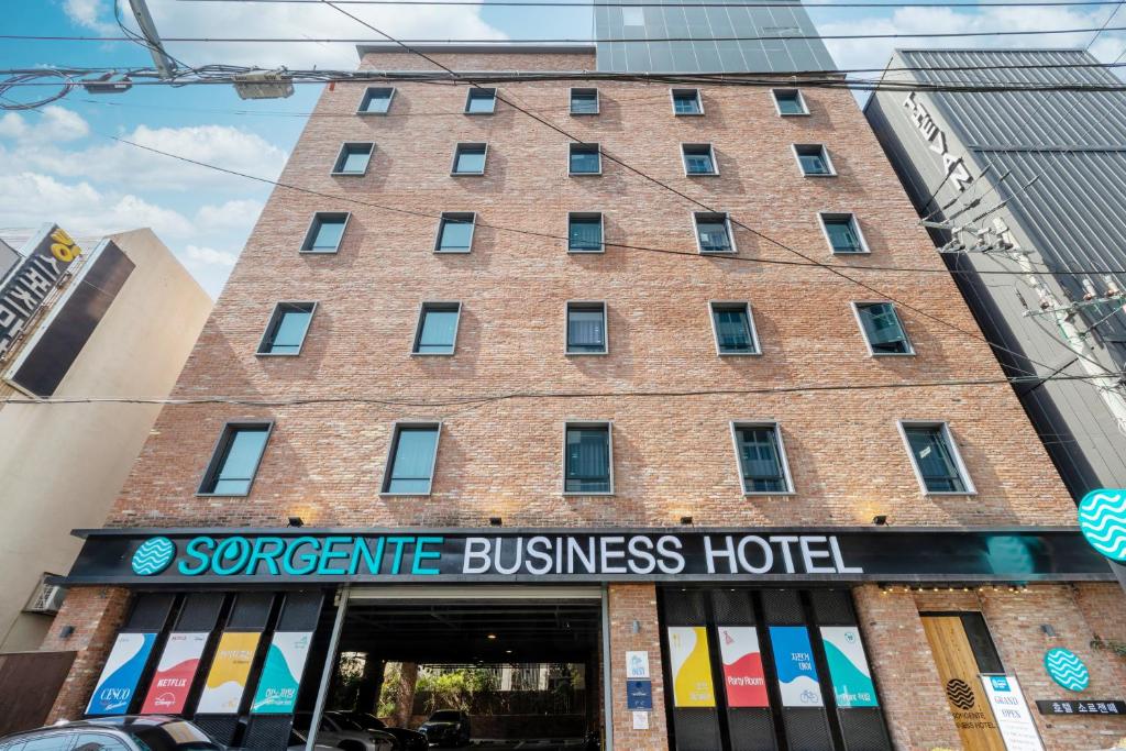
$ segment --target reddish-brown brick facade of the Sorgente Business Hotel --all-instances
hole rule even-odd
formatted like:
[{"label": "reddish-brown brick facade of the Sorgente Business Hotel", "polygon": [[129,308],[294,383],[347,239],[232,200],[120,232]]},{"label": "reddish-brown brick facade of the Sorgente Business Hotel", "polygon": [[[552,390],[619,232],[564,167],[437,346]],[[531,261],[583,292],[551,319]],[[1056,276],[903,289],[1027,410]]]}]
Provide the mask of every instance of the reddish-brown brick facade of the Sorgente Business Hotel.
[{"label": "reddish-brown brick facade of the Sorgente Business Hotel", "polygon": [[[569,75],[593,68],[586,48],[428,54],[482,77],[555,74],[483,83],[500,92],[491,114],[466,114],[470,87],[448,81],[373,83],[394,88],[378,115],[357,114],[368,84],[327,88],[173,394],[232,401],[163,410],[107,527],[123,536],[141,528],[140,537],[159,534],[148,528],[211,535],[270,528],[314,537],[336,528],[456,528],[486,537],[510,528],[716,530],[721,540],[837,529],[892,539],[933,528],[949,536],[944,540],[1043,531],[1066,536],[1069,549],[1082,545],[1061,529],[1074,524],[1067,491],[847,90],[802,88],[807,114],[783,116],[769,87],[700,86],[703,114],[677,115],[668,83]],[[418,56],[374,48],[361,68],[434,70]],[[597,87],[597,114],[570,114],[572,87]],[[599,175],[569,173],[572,137],[599,145]],[[363,175],[333,173],[343,171],[334,166],[349,143],[374,144]],[[483,175],[452,173],[459,143],[488,144]],[[686,175],[682,144],[711,144],[718,173]],[[803,175],[795,144],[822,145],[834,173]],[[301,252],[318,212],[348,215],[336,252]],[[734,253],[698,252],[697,212],[729,214]],[[470,252],[435,252],[443,213],[475,213]],[[601,214],[605,252],[568,251],[570,213]],[[851,214],[870,252],[834,254],[819,213]],[[566,311],[575,301],[605,304],[605,354],[566,354]],[[888,301],[910,356],[873,355],[854,309]],[[296,357],[256,354],[279,302],[316,304]],[[455,302],[453,355],[413,352],[425,305]],[[717,354],[715,302],[750,305],[757,354]],[[257,422],[270,430],[249,492],[200,494],[224,427]],[[392,444],[403,426],[418,423],[440,424],[430,492],[381,492],[391,488]],[[591,423],[613,426],[611,493],[565,493],[568,462],[578,462],[568,458],[565,426]],[[904,432],[912,424],[936,428],[935,446],[950,452],[955,472],[968,481],[960,492],[922,486]],[[744,492],[743,483],[753,482],[749,459],[740,458],[744,427],[774,430],[772,446],[785,456],[780,491]],[[304,524],[301,531],[286,528],[292,517]],[[169,537],[178,540],[177,534]],[[930,538],[919,535],[924,555]],[[767,730],[759,745],[738,748],[771,748],[776,739],[779,748],[847,741],[872,749],[999,748],[959,735],[920,616],[969,613],[988,623],[1003,672],[1019,678],[1046,748],[1112,745],[1126,735],[1121,716],[1042,716],[1034,701],[1119,698],[1126,664],[1091,642],[1126,636],[1112,616],[1126,605],[1121,592],[1098,561],[1083,558],[1076,565],[1087,567],[1074,575],[1037,569],[1062,549],[1044,543],[1027,548],[1039,551],[1028,554],[1035,561],[1007,570],[993,542],[982,553],[993,567],[965,575],[928,578],[905,561],[902,571],[883,579],[865,573],[863,582],[774,572],[723,579],[724,588],[745,594],[732,605],[743,620],[722,620],[729,600],[707,576],[692,580],[698,591],[683,592],[674,575],[604,576],[601,653],[609,669],[600,730],[618,749],[709,748],[700,740],[707,737],[716,739],[712,748],[736,748],[743,731],[735,715],[754,707]],[[115,548],[118,561],[127,561],[135,542],[123,545]],[[810,560],[806,574],[815,571]],[[95,690],[111,645],[107,624],[127,616],[123,588],[160,589],[134,575],[135,565],[119,581],[83,580],[91,561],[80,558],[50,637],[79,652],[57,716],[81,714]],[[80,585],[95,580],[99,585]],[[224,591],[236,592],[231,582]],[[474,584],[463,578],[458,585]],[[825,592],[840,596],[835,605]],[[692,616],[692,602],[707,605]],[[786,604],[805,615],[779,615]],[[806,626],[856,626],[878,692],[874,704],[859,703],[867,714],[855,721],[869,735],[850,735],[850,717],[860,710],[833,699],[824,667],[835,668],[823,646],[815,647],[814,670],[823,706],[798,708],[813,714],[792,713],[785,698],[779,706],[772,686],[765,707],[725,698],[715,632],[724,623],[757,627],[776,647],[781,632],[771,624],[801,626],[806,638]],[[69,640],[56,636],[65,624],[77,627]],[[709,629],[720,695],[711,706],[678,700],[667,686],[676,679],[667,626],[694,624]],[[1071,694],[1052,683],[1042,664],[1051,647],[1079,655],[1090,670],[1088,689]],[[653,701],[647,722],[638,723],[647,728],[635,727],[627,707],[627,651],[647,652]],[[768,679],[781,670],[779,655],[768,660]],[[703,664],[708,659],[705,644]],[[321,673],[315,660],[310,664],[303,701],[315,695]],[[803,717],[823,725],[821,741],[802,740]]]}]

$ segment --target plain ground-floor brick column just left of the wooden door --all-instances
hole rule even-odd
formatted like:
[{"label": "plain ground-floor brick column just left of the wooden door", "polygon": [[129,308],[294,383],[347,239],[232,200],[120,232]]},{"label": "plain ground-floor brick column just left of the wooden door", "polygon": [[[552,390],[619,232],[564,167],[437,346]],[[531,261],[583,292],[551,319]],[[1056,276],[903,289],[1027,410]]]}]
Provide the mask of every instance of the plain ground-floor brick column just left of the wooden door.
[{"label": "plain ground-floor brick column just left of the wooden door", "polygon": [[914,598],[876,584],[852,593],[892,743],[900,751],[960,749]]}]

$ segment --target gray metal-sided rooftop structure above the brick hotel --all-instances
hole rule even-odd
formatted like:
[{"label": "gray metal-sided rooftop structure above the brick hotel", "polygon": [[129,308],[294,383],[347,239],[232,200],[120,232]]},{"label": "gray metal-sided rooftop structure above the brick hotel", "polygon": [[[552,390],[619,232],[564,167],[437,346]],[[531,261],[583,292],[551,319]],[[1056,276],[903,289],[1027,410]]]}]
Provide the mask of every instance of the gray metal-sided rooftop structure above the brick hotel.
[{"label": "gray metal-sided rooftop structure above the brick hotel", "polygon": [[[698,5],[705,0],[654,1],[663,7],[609,7],[596,0],[596,38],[637,39],[599,42],[599,71],[770,73],[837,70],[821,39],[714,41],[722,37],[816,36],[799,2],[792,7],[707,8]],[[691,41],[649,41],[660,38]]]}]

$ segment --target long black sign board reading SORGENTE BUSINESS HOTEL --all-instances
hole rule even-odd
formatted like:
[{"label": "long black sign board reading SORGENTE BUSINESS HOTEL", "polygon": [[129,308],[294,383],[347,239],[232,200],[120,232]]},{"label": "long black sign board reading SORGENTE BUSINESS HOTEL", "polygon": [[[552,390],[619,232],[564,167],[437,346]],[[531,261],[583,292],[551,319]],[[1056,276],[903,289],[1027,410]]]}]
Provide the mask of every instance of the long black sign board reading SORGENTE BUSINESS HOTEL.
[{"label": "long black sign board reading SORGENTE BUSINESS HOTEL", "polygon": [[93,529],[66,584],[1109,581],[1071,529]]}]

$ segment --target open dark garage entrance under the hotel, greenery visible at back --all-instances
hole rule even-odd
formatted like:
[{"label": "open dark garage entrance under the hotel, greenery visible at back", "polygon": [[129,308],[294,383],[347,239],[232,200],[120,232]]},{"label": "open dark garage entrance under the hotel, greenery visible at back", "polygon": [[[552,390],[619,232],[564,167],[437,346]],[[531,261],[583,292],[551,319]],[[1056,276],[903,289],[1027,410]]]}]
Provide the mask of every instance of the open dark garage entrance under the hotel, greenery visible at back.
[{"label": "open dark garage entrance under the hotel, greenery visible at back", "polygon": [[596,749],[601,645],[599,588],[352,590],[327,709],[430,744]]}]

